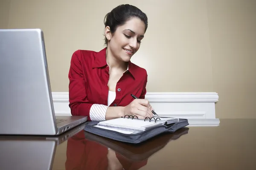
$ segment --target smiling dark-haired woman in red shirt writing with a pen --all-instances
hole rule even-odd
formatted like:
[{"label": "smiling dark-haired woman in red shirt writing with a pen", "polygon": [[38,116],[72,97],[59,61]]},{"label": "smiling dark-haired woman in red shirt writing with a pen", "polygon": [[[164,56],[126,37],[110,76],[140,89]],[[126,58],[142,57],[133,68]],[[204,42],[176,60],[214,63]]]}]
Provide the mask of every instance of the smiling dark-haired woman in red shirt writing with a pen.
[{"label": "smiling dark-haired woman in red shirt writing with a pen", "polygon": [[[105,16],[106,48],[75,51],[69,71],[72,115],[102,121],[125,115],[152,117],[145,99],[147,72],[130,61],[139,50],[148,19],[139,8],[120,5]],[[133,99],[131,94],[139,99]]]}]

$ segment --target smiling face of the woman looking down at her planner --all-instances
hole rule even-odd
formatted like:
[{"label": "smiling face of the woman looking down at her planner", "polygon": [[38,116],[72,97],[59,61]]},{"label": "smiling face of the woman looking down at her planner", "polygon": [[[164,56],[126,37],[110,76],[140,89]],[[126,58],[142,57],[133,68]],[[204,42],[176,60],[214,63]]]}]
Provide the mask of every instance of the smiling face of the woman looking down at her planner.
[{"label": "smiling face of the woman looking down at her planner", "polygon": [[111,51],[113,57],[128,62],[140,48],[140,41],[145,34],[145,23],[134,17],[124,25],[118,26],[114,34],[106,29],[106,34],[110,39],[108,50]]}]

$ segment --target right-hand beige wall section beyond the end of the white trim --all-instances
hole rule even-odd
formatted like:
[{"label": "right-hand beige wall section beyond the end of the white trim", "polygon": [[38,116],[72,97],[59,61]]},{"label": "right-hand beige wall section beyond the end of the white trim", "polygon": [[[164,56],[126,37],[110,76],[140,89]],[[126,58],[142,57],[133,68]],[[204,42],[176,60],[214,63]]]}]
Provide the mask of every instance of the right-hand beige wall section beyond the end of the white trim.
[{"label": "right-hand beige wall section beyond the end of the white trim", "polygon": [[218,117],[256,118],[256,1],[207,0]]}]

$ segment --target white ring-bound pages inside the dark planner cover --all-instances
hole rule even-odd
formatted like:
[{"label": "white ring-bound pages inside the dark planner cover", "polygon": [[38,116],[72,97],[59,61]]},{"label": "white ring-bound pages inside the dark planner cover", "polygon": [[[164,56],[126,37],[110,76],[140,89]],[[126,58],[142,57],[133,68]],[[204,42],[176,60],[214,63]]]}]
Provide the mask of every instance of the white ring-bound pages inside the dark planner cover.
[{"label": "white ring-bound pages inside the dark planner cover", "polygon": [[113,130],[124,134],[133,134],[145,131],[151,127],[169,125],[178,122],[178,118],[153,116],[151,119],[137,119],[137,116],[127,116],[101,121],[95,127]]}]

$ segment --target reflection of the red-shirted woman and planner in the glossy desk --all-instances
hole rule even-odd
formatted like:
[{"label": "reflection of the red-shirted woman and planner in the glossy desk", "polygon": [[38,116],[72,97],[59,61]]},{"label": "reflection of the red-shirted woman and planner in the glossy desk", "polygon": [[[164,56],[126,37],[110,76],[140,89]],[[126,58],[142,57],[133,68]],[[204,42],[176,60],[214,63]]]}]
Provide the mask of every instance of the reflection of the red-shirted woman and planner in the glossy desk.
[{"label": "reflection of the red-shirted woman and planner in the glossy desk", "polygon": [[135,145],[81,131],[67,140],[66,170],[138,170],[149,157],[188,130],[185,127]]}]

